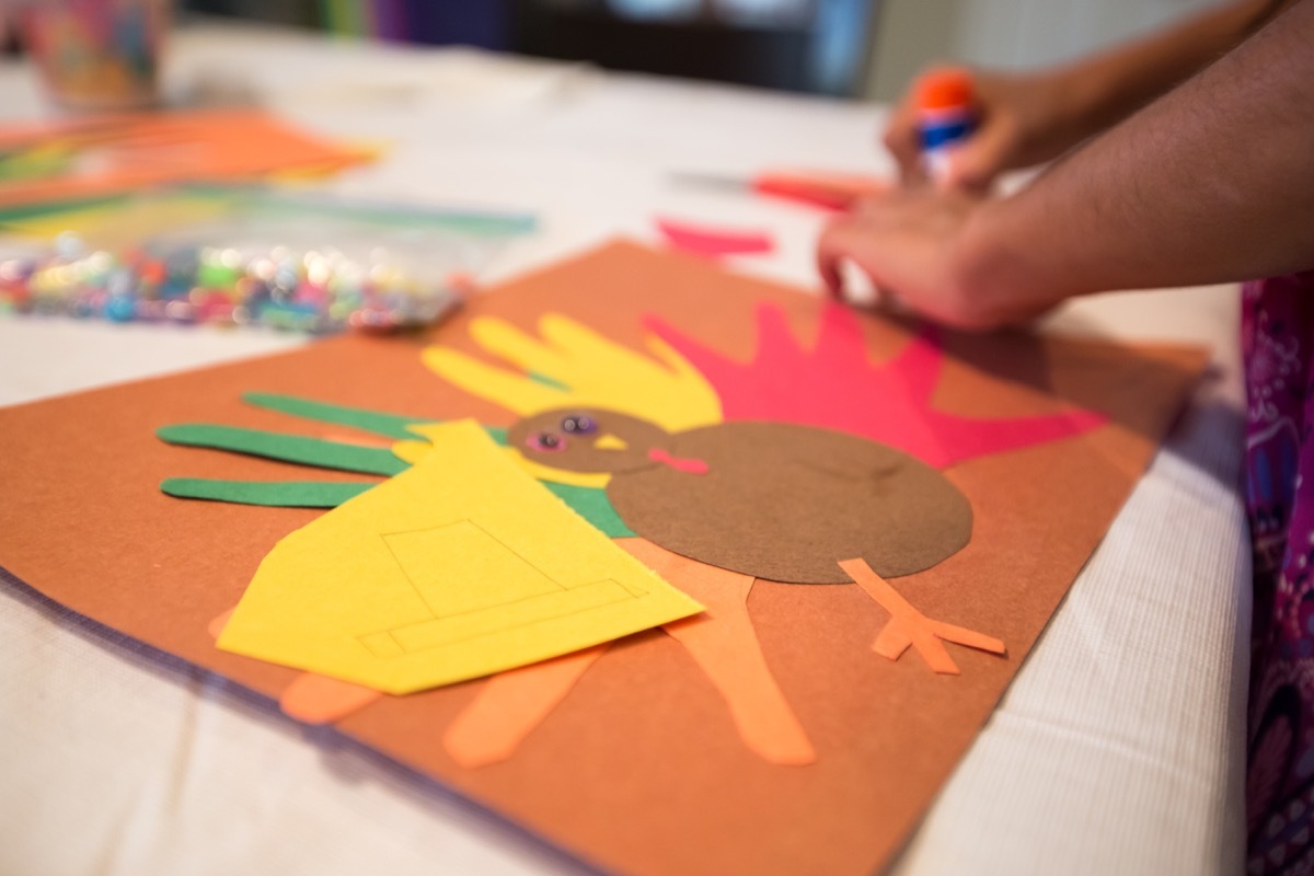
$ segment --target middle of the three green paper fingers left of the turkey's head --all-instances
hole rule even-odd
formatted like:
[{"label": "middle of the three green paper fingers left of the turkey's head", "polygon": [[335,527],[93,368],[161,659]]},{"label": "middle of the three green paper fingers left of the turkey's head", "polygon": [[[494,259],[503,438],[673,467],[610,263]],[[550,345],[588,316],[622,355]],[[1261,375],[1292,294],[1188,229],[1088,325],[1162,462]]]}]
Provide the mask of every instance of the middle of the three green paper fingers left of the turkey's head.
[{"label": "middle of the three green paper fingers left of the turkey's head", "polygon": [[393,456],[392,450],[381,448],[323,441],[300,435],[243,429],[233,426],[183,423],[179,426],[164,426],[156,429],[155,433],[170,444],[250,453],[251,456],[263,456],[283,462],[314,465],[322,469],[339,469],[359,474],[392,477],[410,468],[405,461]]}]

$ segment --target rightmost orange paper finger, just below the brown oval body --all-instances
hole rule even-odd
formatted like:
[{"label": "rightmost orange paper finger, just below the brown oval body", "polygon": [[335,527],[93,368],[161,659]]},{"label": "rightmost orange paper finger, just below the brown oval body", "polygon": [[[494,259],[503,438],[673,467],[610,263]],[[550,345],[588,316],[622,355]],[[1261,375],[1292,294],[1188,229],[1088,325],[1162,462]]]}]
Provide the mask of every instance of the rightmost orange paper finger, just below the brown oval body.
[{"label": "rightmost orange paper finger, just below the brown oval body", "polygon": [[816,750],[775,683],[748,616],[753,578],[707,566],[643,540],[622,540],[657,574],[703,603],[707,611],[664,628],[698,662],[725,697],[744,743],[778,764],[816,760]]}]

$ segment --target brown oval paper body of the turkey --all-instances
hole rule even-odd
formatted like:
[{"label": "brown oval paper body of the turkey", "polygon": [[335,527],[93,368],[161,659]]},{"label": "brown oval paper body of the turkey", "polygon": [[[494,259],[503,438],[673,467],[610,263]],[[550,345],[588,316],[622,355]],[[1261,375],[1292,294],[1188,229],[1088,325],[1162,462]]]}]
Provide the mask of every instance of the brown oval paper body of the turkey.
[{"label": "brown oval paper body of the turkey", "polygon": [[607,498],[625,525],[685,557],[836,584],[853,580],[841,559],[863,557],[894,578],[930,569],[971,537],[963,494],[891,447],[788,423],[720,423],[671,437],[671,452],[706,462],[706,474],[649,465],[612,474]]}]

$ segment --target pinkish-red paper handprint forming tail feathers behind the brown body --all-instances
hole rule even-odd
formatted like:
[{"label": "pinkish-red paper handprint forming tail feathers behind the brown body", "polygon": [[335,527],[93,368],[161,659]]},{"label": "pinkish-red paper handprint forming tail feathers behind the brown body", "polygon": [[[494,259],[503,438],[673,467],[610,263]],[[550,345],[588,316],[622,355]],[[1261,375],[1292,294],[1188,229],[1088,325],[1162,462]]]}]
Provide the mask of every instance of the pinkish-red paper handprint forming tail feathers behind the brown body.
[{"label": "pinkish-red paper handprint forming tail feathers behind the brown body", "polygon": [[924,330],[894,359],[874,365],[857,317],[842,305],[821,313],[812,349],[799,344],[781,307],[758,306],[758,345],[748,362],[728,359],[661,319],[644,324],[716,387],[727,420],[833,428],[888,444],[938,469],[1080,435],[1105,422],[1091,411],[1001,419],[937,411],[930,397],[943,356],[933,332]]}]

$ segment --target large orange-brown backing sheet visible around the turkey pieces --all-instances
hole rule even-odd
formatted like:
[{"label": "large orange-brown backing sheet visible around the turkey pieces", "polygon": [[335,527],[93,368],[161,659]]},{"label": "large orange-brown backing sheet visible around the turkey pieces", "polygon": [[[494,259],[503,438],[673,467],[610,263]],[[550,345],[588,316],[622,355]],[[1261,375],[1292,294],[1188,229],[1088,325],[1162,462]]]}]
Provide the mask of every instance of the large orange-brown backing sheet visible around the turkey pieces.
[{"label": "large orange-brown backing sheet visible around the turkey pieces", "polygon": [[[643,320],[656,315],[746,362],[763,303],[779,309],[795,336],[816,338],[824,313],[816,298],[618,243],[477,297],[436,339],[493,364],[468,338],[470,319],[495,315],[530,332],[555,311],[644,349]],[[872,362],[915,338],[869,317],[858,330]],[[988,717],[1205,361],[1198,349],[1028,335],[945,335],[941,344],[946,356],[929,397],[937,411],[1001,418],[1076,407],[1105,418],[1062,440],[945,469],[972,507],[971,542],[894,582],[928,617],[1007,642],[1007,658],[958,647],[958,676],[933,675],[909,657],[890,662],[871,651],[890,615],[858,586],[758,580],[748,612],[815,747],[812,764],[775,766],[744,746],[721,693],[660,632],[608,647],[503,763],[463,768],[442,745],[487,682],[380,697],[336,728],[604,869],[882,867]],[[407,416],[516,419],[438,380],[422,362],[424,345],[342,338],[0,410],[0,565],[78,612],[279,697],[294,670],[219,651],[206,626],[237,604],[275,542],[321,512],[171,499],[158,489],[167,477],[294,479],[298,470],[168,447],[154,431],[185,422],[284,428],[276,412],[242,405],[242,393],[256,389]]]}]

